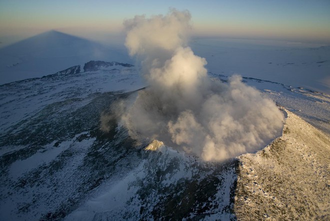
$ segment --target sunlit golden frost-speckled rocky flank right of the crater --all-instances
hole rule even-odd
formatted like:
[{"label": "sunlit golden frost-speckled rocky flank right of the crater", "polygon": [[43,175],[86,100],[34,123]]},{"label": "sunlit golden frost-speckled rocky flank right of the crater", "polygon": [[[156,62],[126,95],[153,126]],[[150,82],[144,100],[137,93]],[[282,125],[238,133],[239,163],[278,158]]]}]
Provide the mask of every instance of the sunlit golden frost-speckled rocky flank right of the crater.
[{"label": "sunlit golden frost-speckled rocky flank right of the crater", "polygon": [[330,219],[330,139],[286,112],[281,137],[238,157],[234,212],[239,220]]}]

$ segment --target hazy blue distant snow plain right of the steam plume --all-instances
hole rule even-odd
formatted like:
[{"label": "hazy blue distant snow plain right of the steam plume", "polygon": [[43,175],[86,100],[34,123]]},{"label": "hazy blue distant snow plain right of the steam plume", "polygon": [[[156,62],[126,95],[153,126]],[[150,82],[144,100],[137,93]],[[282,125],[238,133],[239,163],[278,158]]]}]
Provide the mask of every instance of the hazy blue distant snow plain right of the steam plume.
[{"label": "hazy blue distant snow plain right of the steam plume", "polygon": [[284,41],[195,38],[209,72],[239,74],[330,94],[330,46]]}]

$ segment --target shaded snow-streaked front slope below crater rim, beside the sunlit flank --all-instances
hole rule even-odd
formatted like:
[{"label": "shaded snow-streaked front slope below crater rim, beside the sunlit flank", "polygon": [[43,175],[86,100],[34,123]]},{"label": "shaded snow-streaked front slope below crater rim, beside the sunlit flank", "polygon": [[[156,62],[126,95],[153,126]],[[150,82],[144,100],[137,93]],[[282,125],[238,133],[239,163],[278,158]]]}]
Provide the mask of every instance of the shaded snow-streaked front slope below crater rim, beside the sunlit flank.
[{"label": "shaded snow-streaked front slope below crater rim, beside the sunlit flank", "polygon": [[229,220],[235,163],[204,163],[166,146],[111,177],[64,220]]}]

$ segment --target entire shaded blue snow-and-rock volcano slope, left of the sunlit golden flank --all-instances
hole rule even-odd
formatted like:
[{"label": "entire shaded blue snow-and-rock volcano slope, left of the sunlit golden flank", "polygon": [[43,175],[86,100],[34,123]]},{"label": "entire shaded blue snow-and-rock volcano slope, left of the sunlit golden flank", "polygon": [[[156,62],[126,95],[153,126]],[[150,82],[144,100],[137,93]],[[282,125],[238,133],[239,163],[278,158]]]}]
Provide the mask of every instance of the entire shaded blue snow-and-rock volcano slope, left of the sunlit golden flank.
[{"label": "entire shaded blue snow-and-rock volcano slope, left of the sunlit golden flank", "polygon": [[1,219],[233,217],[235,160],[144,150],[113,119],[99,129],[102,112],[132,93],[122,89],[143,87],[137,76],[98,70],[1,86]]}]

